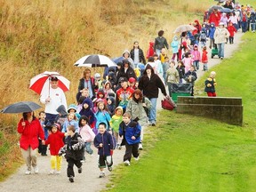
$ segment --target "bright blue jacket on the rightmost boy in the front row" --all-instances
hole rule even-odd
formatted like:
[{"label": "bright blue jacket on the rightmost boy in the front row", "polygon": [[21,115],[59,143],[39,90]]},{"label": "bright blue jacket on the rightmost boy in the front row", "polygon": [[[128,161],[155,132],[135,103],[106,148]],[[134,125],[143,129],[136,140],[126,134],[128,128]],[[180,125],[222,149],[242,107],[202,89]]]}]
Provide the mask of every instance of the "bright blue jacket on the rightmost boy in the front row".
[{"label": "bright blue jacket on the rightmost boy in the front row", "polygon": [[[141,126],[135,121],[131,121],[129,124],[124,124],[124,121],[119,125],[119,135],[122,137],[124,135],[124,140],[122,141],[122,145],[124,141],[126,141],[129,145],[136,144],[140,142],[140,131]],[[132,136],[136,139],[132,140]]]}]

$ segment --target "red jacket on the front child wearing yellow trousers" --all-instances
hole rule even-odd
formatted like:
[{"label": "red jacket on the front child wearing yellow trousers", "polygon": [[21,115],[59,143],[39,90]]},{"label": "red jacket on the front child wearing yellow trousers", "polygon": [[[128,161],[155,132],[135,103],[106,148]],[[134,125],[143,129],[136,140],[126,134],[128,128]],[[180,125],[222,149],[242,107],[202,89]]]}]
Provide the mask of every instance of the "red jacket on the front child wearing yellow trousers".
[{"label": "red jacket on the front child wearing yellow trousers", "polygon": [[59,130],[55,133],[51,133],[48,140],[45,140],[45,145],[50,144],[51,156],[58,156],[60,148],[64,146],[63,138],[65,137],[64,132]]}]

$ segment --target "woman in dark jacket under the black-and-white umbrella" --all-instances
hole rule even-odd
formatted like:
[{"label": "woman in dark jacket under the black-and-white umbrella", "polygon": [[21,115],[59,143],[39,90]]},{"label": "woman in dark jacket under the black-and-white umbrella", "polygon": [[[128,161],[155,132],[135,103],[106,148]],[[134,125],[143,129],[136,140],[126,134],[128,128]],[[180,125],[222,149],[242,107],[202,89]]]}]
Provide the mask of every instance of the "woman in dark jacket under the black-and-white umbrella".
[{"label": "woman in dark jacket under the black-and-white umbrella", "polygon": [[91,70],[89,68],[85,68],[83,78],[79,80],[78,92],[76,94],[76,100],[78,102],[81,91],[85,88],[89,91],[89,97],[93,100],[95,98],[95,90],[98,90],[98,82],[91,76]]}]

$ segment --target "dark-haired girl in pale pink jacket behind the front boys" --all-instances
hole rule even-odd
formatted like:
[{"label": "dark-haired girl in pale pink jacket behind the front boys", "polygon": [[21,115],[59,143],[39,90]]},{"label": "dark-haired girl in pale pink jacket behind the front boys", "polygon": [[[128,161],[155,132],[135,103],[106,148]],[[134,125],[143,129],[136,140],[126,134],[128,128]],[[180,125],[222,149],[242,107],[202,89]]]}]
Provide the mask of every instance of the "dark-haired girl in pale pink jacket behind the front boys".
[{"label": "dark-haired girl in pale pink jacket behind the front boys", "polygon": [[[79,119],[79,134],[84,140],[84,150],[92,156],[93,150],[91,148],[92,140],[95,138],[95,133],[92,132],[92,128],[89,126],[89,119],[87,116],[81,116]],[[85,160],[85,157],[83,158]]]}]

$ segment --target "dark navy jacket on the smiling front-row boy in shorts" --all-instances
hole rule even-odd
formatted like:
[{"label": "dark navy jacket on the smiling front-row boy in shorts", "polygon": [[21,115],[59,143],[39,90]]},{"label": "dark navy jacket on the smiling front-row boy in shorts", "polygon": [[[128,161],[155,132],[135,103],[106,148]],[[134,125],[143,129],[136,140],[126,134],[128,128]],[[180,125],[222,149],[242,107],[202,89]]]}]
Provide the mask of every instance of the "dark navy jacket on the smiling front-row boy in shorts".
[{"label": "dark navy jacket on the smiling front-row boy in shorts", "polygon": [[[103,144],[102,148],[100,148],[100,143]],[[93,140],[93,144],[95,148],[98,148],[98,155],[100,156],[110,156],[110,150],[114,149],[113,137],[107,131],[103,134],[98,133]]]}]

